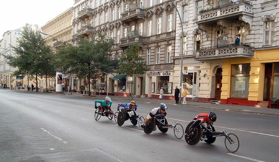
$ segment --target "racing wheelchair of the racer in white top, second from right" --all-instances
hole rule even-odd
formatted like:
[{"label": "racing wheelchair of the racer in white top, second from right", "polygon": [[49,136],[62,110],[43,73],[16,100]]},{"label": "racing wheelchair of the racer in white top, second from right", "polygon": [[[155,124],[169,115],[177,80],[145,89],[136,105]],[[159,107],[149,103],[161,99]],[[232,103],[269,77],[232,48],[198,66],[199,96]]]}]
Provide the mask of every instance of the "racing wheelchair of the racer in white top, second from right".
[{"label": "racing wheelchair of the racer in white top, second from right", "polygon": [[145,134],[150,134],[156,130],[156,125],[162,133],[167,133],[169,128],[174,129],[174,136],[181,139],[184,135],[184,129],[181,124],[173,122],[168,124],[167,119],[163,115],[154,116],[148,120],[146,126],[143,128]]}]

